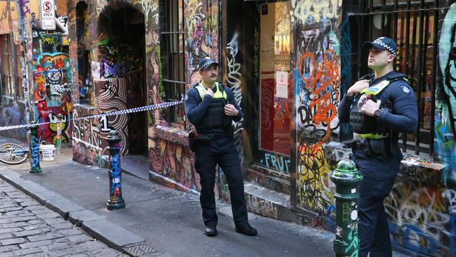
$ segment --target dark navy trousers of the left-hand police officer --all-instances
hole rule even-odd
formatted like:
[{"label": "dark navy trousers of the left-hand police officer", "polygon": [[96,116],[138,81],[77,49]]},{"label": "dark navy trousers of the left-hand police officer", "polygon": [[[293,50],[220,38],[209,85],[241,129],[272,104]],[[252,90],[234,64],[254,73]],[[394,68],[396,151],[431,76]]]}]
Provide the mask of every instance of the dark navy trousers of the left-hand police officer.
[{"label": "dark navy trousers of the left-hand police officer", "polygon": [[228,137],[218,138],[210,142],[198,143],[195,151],[195,168],[201,182],[199,201],[203,209],[205,225],[217,225],[218,217],[215,210],[215,166],[218,164],[227,178],[231,196],[234,223],[248,223],[246,199],[241,162],[233,141]]}]

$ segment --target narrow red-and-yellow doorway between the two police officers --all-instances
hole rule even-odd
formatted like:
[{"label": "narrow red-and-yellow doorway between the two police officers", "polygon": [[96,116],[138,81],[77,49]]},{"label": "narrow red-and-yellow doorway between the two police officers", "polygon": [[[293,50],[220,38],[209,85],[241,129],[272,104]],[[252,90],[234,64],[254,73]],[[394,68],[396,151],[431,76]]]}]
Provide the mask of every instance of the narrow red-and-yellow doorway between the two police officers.
[{"label": "narrow red-and-yellow doorway between the two police officers", "polygon": [[[289,179],[290,72],[293,30],[290,1],[260,4],[260,154],[257,164]],[[274,175],[274,174],[273,174]]]}]

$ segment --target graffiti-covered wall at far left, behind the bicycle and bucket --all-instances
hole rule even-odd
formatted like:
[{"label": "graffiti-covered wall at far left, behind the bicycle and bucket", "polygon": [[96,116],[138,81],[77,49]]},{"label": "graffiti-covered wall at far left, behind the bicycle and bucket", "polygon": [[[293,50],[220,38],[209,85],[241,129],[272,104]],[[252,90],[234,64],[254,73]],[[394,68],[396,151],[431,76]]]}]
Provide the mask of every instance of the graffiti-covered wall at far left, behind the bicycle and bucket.
[{"label": "graffiti-covered wall at far left, behind the bicycle and bucket", "polygon": [[[6,29],[5,22],[10,22],[10,31],[13,34],[13,44],[10,47],[11,74],[15,83],[22,80],[21,85],[16,85],[20,92],[9,95],[11,100],[2,101],[2,125],[27,123],[27,120],[48,122],[40,125],[39,140],[48,143],[55,143],[57,134],[57,115],[63,114],[62,142],[67,143],[71,138],[72,99],[71,99],[71,79],[69,74],[69,58],[67,37],[64,35],[67,27],[67,6],[63,1],[57,1],[58,10],[56,18],[58,26],[55,30],[43,31],[39,20],[39,1],[18,1],[20,4],[24,27],[25,27],[25,48],[19,48],[20,37],[18,27],[18,11],[14,1],[5,1],[0,5],[2,18],[1,27]],[[0,29],[1,30],[1,29]],[[4,48],[3,46],[1,48]],[[16,51],[13,51],[13,49]],[[4,49],[6,51],[6,48]],[[24,51],[25,61],[16,58]],[[22,70],[26,70],[28,78],[28,93],[22,93],[22,86],[27,86],[25,80],[17,79],[23,77]],[[25,105],[24,107],[19,107]],[[31,106],[31,108],[29,107]],[[12,136],[21,140],[26,140],[25,129],[15,131],[5,131],[6,136]]]}]

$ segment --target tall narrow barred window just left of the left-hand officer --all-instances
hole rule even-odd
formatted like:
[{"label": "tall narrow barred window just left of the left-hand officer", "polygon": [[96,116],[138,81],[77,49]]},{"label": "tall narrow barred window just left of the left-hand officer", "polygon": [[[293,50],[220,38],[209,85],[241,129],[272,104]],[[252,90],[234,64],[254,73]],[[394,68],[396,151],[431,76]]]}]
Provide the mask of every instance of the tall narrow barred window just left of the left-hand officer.
[{"label": "tall narrow barred window just left of the left-hand officer", "polygon": [[[179,101],[185,93],[184,1],[163,1],[164,26],[161,27],[161,67],[164,100]],[[184,106],[169,108],[168,123],[185,126]]]}]

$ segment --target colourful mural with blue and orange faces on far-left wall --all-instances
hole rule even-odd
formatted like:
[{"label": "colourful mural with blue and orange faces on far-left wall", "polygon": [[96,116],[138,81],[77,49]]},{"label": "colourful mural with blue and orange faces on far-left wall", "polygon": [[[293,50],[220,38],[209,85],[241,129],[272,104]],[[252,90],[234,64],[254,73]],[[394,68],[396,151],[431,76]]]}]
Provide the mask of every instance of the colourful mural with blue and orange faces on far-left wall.
[{"label": "colourful mural with blue and orange faces on far-left wall", "polygon": [[[34,17],[34,13],[32,15]],[[67,18],[64,19],[66,24]],[[62,45],[60,33],[48,34],[32,27],[34,48],[33,95],[35,119],[51,122],[39,127],[40,140],[55,143],[57,140],[58,114],[63,115],[62,142],[69,142],[72,135],[73,103],[69,55]]]}]

